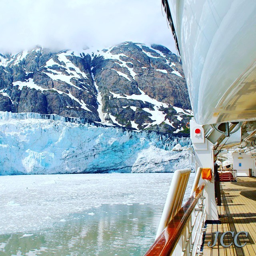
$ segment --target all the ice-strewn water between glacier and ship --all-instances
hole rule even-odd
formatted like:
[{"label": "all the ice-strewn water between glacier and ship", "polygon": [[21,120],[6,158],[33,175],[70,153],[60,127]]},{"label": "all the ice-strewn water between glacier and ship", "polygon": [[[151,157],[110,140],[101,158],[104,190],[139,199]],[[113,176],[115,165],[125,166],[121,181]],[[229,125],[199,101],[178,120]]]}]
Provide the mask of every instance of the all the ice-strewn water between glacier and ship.
[{"label": "all the ice-strewn water between glacier and ship", "polygon": [[172,176],[2,176],[0,256],[144,255]]}]

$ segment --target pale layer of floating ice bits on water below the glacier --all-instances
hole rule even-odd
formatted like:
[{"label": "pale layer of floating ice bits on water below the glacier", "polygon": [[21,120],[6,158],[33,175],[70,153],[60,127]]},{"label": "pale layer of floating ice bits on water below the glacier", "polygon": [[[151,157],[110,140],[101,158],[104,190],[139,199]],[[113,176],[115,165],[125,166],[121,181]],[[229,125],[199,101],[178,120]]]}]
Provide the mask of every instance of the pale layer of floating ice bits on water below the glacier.
[{"label": "pale layer of floating ice bits on water below the glacier", "polygon": [[[164,207],[172,173],[0,176],[0,234],[24,233],[66,222],[74,213],[97,215],[102,204]],[[190,194],[190,174],[185,198]]]}]

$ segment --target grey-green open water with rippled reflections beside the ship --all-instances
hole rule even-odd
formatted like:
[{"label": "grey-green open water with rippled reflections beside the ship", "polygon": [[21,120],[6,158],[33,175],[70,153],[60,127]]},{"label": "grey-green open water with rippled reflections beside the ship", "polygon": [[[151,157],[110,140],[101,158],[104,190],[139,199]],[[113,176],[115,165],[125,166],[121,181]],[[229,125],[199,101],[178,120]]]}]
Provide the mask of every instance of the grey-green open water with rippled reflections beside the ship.
[{"label": "grey-green open water with rippled reflections beside the ship", "polygon": [[1,235],[0,256],[144,255],[161,213],[160,206],[149,204],[105,204],[47,230]]}]

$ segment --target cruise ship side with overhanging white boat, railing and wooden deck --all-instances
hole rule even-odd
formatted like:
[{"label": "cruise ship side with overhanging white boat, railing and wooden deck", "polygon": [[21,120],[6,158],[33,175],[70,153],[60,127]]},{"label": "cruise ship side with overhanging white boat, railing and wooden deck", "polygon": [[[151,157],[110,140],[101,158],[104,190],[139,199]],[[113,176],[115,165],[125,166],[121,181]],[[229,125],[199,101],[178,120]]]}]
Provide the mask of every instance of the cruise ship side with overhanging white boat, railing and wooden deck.
[{"label": "cruise ship side with overhanging white boat, railing and wooden deck", "polygon": [[145,256],[256,255],[256,1],[162,0],[162,8],[194,112],[196,176],[182,205],[190,170],[174,173]]}]

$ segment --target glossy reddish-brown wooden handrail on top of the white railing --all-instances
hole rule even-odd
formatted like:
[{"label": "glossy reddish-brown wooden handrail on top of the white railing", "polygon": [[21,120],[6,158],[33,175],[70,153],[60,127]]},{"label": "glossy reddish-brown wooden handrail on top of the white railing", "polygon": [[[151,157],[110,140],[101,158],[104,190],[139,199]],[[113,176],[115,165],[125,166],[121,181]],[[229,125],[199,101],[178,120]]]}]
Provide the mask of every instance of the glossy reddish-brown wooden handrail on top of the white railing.
[{"label": "glossy reddish-brown wooden handrail on top of the white railing", "polygon": [[186,224],[192,214],[201,194],[204,190],[205,182],[200,184],[194,195],[184,204],[170,223],[166,226],[154,244],[148,249],[144,256],[170,256],[186,227]]}]

